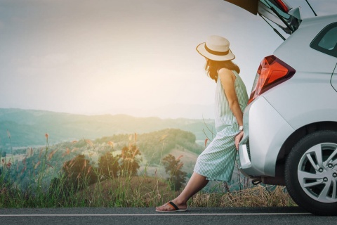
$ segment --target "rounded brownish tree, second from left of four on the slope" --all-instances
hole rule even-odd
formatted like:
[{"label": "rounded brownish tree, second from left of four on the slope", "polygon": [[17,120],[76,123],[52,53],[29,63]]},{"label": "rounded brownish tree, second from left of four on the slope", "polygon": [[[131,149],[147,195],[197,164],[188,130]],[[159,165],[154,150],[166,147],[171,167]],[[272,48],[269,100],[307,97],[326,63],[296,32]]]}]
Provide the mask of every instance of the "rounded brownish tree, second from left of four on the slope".
[{"label": "rounded brownish tree, second from left of four on the slope", "polygon": [[112,153],[107,152],[100,157],[98,162],[98,169],[100,174],[103,174],[105,177],[115,178],[119,172],[118,160],[120,155],[114,156]]}]

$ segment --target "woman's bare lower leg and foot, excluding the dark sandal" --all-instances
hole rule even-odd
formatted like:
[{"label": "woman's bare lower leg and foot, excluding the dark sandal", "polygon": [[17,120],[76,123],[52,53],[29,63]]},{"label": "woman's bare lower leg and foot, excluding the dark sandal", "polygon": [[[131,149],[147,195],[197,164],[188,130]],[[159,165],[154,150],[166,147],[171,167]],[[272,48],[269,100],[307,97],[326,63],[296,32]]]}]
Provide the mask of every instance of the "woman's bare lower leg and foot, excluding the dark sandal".
[{"label": "woman's bare lower leg and foot, excluding the dark sandal", "polygon": [[[202,176],[193,172],[190,181],[187,182],[184,190],[177,198],[173,199],[172,202],[178,206],[180,209],[185,209],[187,207],[187,200],[189,200],[194,194],[200,191],[209,181],[206,180],[206,176]],[[162,205],[156,208],[161,211],[173,210],[169,205]]]}]

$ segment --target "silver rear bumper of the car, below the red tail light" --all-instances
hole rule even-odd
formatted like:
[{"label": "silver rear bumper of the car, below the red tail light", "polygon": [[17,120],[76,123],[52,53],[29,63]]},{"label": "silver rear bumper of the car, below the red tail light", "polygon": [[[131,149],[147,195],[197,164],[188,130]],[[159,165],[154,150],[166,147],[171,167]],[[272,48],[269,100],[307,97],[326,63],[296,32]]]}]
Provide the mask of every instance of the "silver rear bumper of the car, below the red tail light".
[{"label": "silver rear bumper of the car, below the red tail light", "polygon": [[246,176],[275,176],[277,155],[294,129],[260,96],[244,111],[239,168]]}]

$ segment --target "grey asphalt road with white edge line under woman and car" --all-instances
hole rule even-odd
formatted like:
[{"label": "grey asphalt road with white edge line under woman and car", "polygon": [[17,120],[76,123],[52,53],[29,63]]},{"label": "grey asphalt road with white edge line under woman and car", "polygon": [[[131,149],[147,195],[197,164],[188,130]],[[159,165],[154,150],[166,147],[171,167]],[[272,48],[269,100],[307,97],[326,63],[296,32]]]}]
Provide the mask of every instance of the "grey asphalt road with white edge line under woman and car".
[{"label": "grey asphalt road with white edge line under woman and car", "polygon": [[337,217],[317,217],[300,207],[198,207],[158,213],[154,208],[0,209],[0,224],[336,224]]}]

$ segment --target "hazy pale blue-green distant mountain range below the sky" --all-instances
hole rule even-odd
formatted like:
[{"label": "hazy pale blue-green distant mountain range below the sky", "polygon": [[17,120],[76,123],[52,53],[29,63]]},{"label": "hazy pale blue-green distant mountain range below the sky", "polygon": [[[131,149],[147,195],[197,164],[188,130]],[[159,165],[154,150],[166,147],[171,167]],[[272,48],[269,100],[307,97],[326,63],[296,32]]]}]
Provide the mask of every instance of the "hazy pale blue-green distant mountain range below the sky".
[{"label": "hazy pale blue-green distant mountain range below the sky", "polygon": [[128,115],[75,115],[43,110],[0,108],[0,148],[39,146],[114,134],[143,134],[176,128],[192,132],[197,140],[211,135],[213,120],[160,119]]}]

